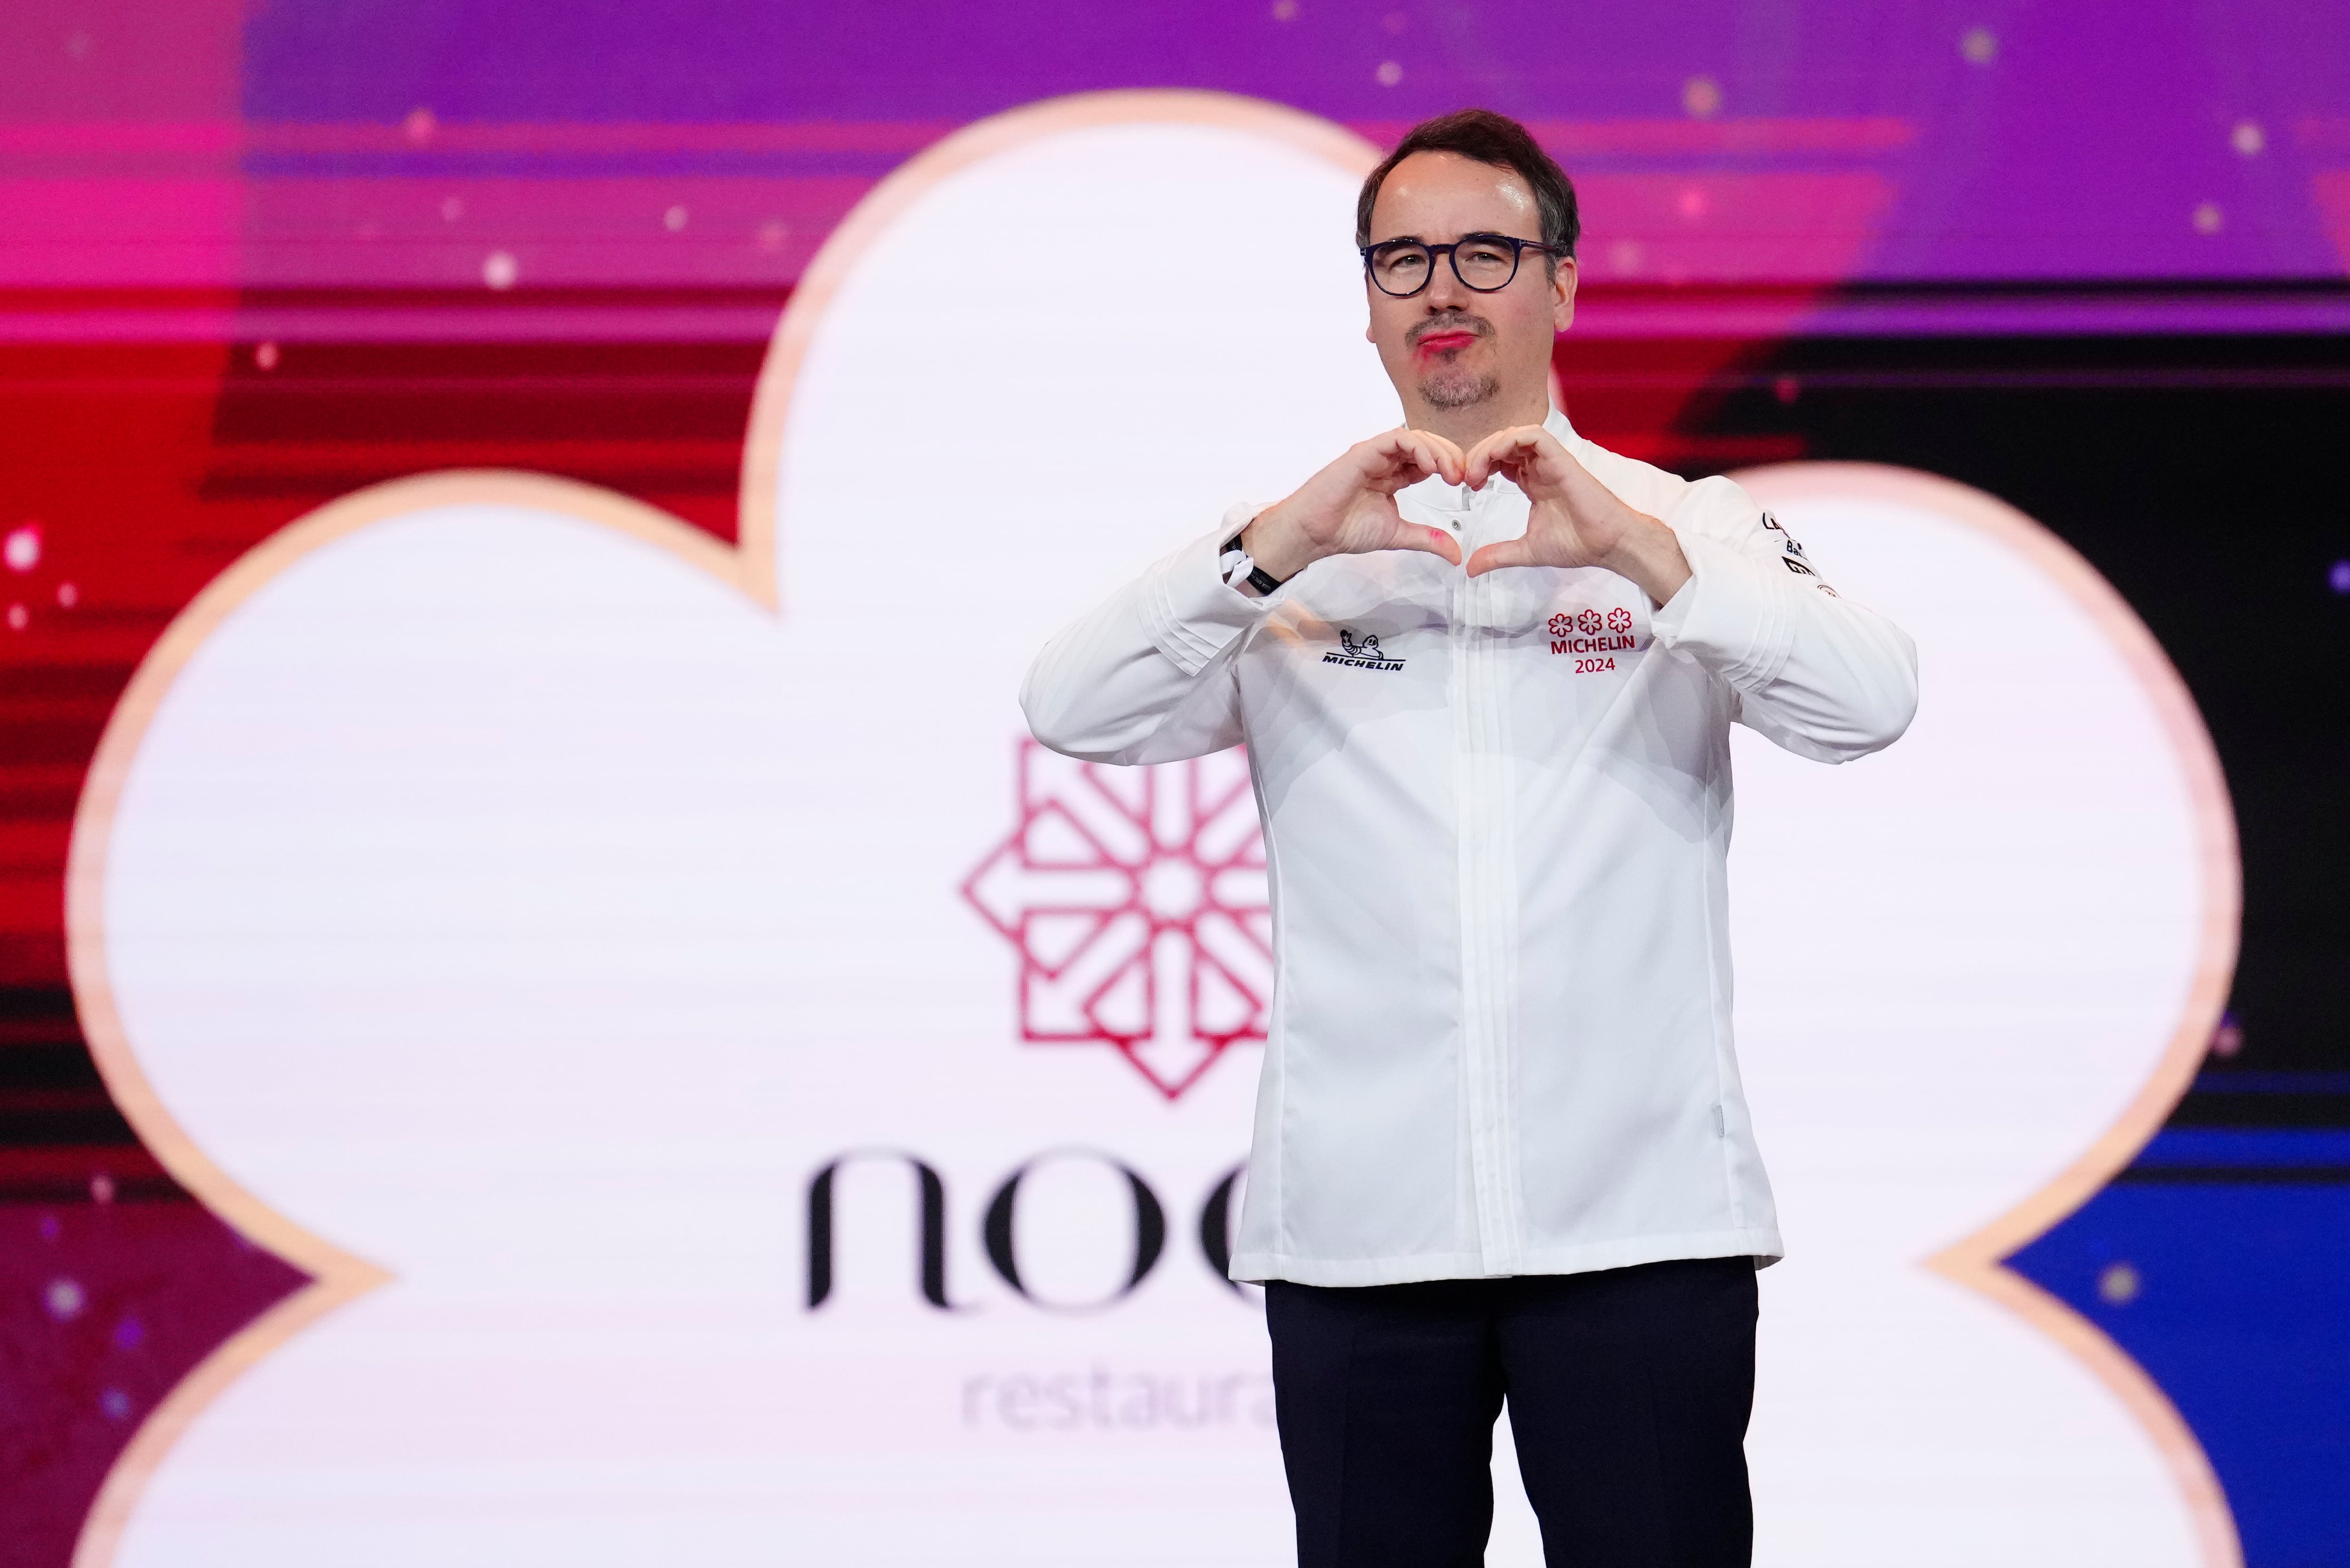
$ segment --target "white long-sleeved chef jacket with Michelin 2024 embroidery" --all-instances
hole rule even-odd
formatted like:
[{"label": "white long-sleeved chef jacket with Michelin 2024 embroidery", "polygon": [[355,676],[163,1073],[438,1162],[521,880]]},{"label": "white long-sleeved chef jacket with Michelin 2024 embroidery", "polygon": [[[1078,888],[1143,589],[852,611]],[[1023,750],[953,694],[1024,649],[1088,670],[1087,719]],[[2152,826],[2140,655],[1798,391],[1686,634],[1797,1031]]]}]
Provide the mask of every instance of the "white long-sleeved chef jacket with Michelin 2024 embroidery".
[{"label": "white long-sleeved chef jacket with Michelin 2024 embroidery", "polygon": [[[1730,480],[1549,430],[1671,524],[1694,576],[1666,607],[1408,550],[1257,599],[1217,569],[1243,505],[1022,689],[1069,757],[1248,745],[1276,983],[1234,1279],[1781,1255],[1730,1041],[1730,724],[1864,757],[1908,726],[1918,654]],[[1499,477],[1398,505],[1464,557],[1528,520]]]}]

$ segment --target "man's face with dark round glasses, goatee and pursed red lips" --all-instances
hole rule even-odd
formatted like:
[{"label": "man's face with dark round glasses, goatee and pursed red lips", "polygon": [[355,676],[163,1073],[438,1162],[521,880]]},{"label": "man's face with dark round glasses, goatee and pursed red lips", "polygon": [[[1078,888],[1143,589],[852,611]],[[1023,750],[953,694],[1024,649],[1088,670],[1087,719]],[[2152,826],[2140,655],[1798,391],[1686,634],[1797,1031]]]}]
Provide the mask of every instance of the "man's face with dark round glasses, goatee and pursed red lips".
[{"label": "man's face with dark round glasses, goatee and pursed red lips", "polygon": [[[1459,153],[1412,153],[1389,169],[1370,212],[1372,244],[1450,244],[1476,233],[1542,240],[1542,214],[1516,169]],[[1518,275],[1495,294],[1462,284],[1450,259],[1438,259],[1429,287],[1410,299],[1363,280],[1370,294],[1365,336],[1412,423],[1424,411],[1490,402],[1511,416],[1535,402],[1549,407],[1551,341],[1574,317],[1574,261],[1560,259],[1556,277],[1542,261],[1539,252],[1528,252]]]}]

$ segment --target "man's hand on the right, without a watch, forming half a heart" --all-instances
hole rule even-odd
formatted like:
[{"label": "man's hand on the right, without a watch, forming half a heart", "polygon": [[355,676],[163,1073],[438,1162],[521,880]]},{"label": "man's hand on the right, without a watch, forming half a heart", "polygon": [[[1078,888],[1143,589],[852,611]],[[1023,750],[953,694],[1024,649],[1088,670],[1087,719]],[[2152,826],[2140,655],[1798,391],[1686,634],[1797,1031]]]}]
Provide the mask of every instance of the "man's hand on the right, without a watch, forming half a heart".
[{"label": "man's hand on the right, without a watch, forming half a heart", "polygon": [[1525,491],[1532,515],[1518,538],[1469,557],[1469,576],[1497,567],[1605,567],[1664,604],[1690,581],[1690,557],[1673,529],[1636,512],[1542,425],[1497,430],[1469,454],[1471,489],[1506,475]]}]

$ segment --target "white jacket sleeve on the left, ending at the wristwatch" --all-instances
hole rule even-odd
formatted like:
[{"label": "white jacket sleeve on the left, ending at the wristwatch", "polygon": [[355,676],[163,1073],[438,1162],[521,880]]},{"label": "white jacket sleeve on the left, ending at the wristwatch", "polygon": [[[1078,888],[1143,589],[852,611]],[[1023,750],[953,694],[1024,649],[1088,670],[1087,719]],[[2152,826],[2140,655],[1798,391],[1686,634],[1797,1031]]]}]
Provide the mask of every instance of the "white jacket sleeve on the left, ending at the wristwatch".
[{"label": "white jacket sleeve on the left, ending at the wristwatch", "polygon": [[1121,588],[1043,644],[1020,684],[1029,733],[1081,762],[1180,762],[1241,743],[1234,661],[1278,595],[1253,599],[1217,571],[1224,524]]}]

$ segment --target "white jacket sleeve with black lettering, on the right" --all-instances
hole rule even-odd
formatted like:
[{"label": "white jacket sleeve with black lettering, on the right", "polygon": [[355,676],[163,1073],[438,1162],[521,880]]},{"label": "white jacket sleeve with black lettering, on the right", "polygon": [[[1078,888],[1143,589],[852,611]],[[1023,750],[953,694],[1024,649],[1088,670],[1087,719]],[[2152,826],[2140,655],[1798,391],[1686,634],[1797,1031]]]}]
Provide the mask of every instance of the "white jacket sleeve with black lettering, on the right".
[{"label": "white jacket sleeve with black lettering, on the right", "polygon": [[1918,712],[1918,644],[1840,597],[1802,545],[1730,480],[1699,480],[1666,520],[1690,581],[1652,618],[1739,701],[1737,719],[1817,762],[1901,738]]}]

